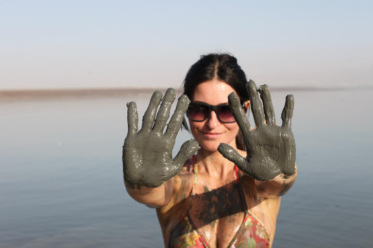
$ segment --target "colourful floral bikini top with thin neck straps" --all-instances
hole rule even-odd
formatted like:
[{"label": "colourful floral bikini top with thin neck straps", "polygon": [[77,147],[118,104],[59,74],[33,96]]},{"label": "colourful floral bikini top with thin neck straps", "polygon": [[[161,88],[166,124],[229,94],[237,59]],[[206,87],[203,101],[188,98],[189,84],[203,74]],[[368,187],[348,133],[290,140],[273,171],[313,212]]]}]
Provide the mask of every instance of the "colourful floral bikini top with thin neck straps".
[{"label": "colourful floral bikini top with thin neck straps", "polygon": [[[191,159],[193,161],[193,157]],[[170,248],[208,248],[206,240],[203,235],[198,231],[194,225],[192,218],[189,216],[189,209],[196,189],[197,184],[197,164],[193,163],[189,168],[189,171],[194,170],[194,183],[192,187],[192,193],[189,198],[189,207],[185,217],[176,225],[175,229],[170,235]],[[236,166],[237,181],[238,168]],[[232,242],[229,244],[229,248],[268,248],[270,244],[269,235],[264,227],[252,217],[248,210],[245,198],[243,196],[242,188],[240,187],[240,196],[245,209],[245,217],[243,222],[238,229]]]}]

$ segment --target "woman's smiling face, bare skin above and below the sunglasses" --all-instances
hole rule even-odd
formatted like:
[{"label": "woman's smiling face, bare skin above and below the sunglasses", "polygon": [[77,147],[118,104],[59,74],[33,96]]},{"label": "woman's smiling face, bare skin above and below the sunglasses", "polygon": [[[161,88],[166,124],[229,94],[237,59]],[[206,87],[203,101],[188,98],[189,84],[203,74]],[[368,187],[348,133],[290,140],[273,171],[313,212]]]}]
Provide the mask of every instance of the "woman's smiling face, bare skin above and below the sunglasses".
[{"label": "woman's smiling face, bare skin above and below the sunglasses", "polygon": [[[191,101],[209,105],[228,104],[228,95],[231,92],[235,90],[229,84],[217,79],[209,80],[195,88]],[[239,130],[237,123],[220,122],[214,110],[203,122],[189,120],[189,124],[193,137],[204,150],[216,152],[220,143],[236,148],[236,136]]]}]

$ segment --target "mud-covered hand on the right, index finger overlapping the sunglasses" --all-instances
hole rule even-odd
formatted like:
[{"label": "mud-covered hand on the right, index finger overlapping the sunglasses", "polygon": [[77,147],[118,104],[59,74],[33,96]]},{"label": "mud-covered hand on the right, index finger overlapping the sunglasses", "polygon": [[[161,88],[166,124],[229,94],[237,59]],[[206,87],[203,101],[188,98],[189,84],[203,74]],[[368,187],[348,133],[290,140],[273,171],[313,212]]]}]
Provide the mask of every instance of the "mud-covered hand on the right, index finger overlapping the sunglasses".
[{"label": "mud-covered hand on the right, index finger overlapping the sunglasses", "polygon": [[234,148],[223,143],[218,147],[219,152],[234,162],[241,171],[259,181],[269,181],[281,173],[293,174],[295,171],[295,140],[291,131],[293,95],[286,97],[281,115],[282,126],[278,126],[268,86],[259,87],[263,107],[254,81],[250,80],[246,86],[255,129],[251,128],[235,93],[228,96],[228,104],[242,132],[247,156],[242,157]]}]

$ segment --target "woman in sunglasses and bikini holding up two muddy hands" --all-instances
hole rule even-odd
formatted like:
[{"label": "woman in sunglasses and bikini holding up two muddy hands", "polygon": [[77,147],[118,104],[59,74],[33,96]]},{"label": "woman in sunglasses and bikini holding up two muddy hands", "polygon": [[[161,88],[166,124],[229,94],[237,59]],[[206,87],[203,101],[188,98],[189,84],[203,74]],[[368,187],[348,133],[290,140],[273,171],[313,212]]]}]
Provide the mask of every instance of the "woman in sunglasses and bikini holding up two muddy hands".
[{"label": "woman in sunglasses and bikini holding up two muddy hands", "polygon": [[[259,88],[262,108],[254,81],[246,91],[244,72],[227,54],[202,56],[189,69],[184,90],[169,124],[173,89],[163,98],[153,94],[138,132],[136,104],[127,105],[128,193],[156,208],[166,247],[271,247],[281,196],[297,175],[292,95],[278,126],[268,86]],[[245,116],[250,104],[255,128]],[[185,112],[196,140],[186,141],[172,159]]]}]

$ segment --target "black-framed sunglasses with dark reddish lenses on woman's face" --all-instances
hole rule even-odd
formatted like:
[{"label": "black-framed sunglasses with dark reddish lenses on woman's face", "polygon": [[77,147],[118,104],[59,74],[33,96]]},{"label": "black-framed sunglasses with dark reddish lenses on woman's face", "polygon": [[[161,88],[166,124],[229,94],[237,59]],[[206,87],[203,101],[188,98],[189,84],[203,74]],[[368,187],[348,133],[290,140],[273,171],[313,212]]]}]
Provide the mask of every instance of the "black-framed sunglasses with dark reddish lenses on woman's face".
[{"label": "black-framed sunglasses with dark reddish lenses on woman's face", "polygon": [[[241,105],[244,108],[244,105]],[[214,110],[218,120],[222,123],[234,123],[235,118],[232,115],[231,109],[229,109],[228,104],[220,104],[216,106],[208,105],[205,103],[191,102],[188,109],[186,110],[186,116],[189,120],[194,122],[203,122],[206,120],[211,110]]]}]

